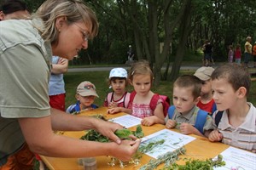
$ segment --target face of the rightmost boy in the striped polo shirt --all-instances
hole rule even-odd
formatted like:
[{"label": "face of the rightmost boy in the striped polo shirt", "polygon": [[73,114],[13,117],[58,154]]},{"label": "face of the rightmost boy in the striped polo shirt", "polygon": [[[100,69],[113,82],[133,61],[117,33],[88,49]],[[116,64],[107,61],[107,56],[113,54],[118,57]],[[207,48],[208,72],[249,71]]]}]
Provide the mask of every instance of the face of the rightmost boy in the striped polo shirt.
[{"label": "face of the rightmost boy in the striped polo shirt", "polygon": [[213,99],[218,111],[224,111],[236,105],[237,91],[224,78],[212,81]]}]

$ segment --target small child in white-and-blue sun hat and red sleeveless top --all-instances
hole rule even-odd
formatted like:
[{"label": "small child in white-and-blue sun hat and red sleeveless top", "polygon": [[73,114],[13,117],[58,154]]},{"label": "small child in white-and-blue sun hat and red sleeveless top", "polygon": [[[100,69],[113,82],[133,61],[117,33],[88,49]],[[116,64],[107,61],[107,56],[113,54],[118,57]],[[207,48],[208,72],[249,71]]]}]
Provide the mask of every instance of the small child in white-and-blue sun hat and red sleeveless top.
[{"label": "small child in white-and-blue sun hat and red sleeveless top", "polygon": [[113,114],[119,111],[125,111],[130,100],[130,93],[126,92],[127,71],[123,68],[113,68],[109,73],[109,85],[113,92],[108,93],[104,106],[108,107],[108,113]]}]

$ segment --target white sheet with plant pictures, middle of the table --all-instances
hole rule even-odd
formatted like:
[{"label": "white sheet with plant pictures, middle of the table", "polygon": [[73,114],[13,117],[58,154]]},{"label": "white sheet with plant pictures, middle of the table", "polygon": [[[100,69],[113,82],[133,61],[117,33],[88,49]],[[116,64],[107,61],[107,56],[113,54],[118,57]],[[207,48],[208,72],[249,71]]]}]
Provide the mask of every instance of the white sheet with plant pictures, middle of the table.
[{"label": "white sheet with plant pictures, middle of the table", "polygon": [[162,156],[167,152],[177,150],[185,144],[195,140],[194,137],[189,135],[184,135],[182,133],[176,133],[168,129],[160,130],[157,133],[150,134],[142,139],[141,145],[146,145],[149,143],[155,143],[164,139],[163,144],[157,145],[152,150],[146,152],[148,156],[154,157],[157,159],[158,156]]}]

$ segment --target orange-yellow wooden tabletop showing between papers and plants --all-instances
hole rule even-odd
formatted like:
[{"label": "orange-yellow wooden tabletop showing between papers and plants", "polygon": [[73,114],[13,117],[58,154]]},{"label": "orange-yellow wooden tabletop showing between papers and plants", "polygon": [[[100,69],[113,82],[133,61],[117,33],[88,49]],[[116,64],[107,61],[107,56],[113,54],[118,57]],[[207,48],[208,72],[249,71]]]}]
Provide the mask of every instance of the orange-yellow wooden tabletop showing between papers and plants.
[{"label": "orange-yellow wooden tabletop showing between papers and plants", "polygon": [[[107,108],[99,108],[93,111],[84,111],[79,116],[93,116],[97,114],[102,114],[106,116],[107,119],[117,117],[117,116],[123,116],[125,113],[119,113],[115,115],[108,115],[106,114]],[[143,127],[143,133],[145,136],[151,133],[158,132],[162,129],[165,129],[166,127],[164,125],[155,124],[151,127]],[[135,130],[136,127],[131,127],[131,130]],[[173,131],[178,132],[176,129],[173,129]],[[81,132],[64,132],[61,135],[65,135],[68,137],[79,139],[81,136],[84,135],[84,131]],[[219,153],[224,151],[229,147],[227,144],[222,143],[212,143],[209,142],[208,139],[193,135],[190,136],[195,137],[196,139],[190,142],[189,144],[185,145],[186,154],[184,156],[179,156],[181,159],[177,161],[179,164],[183,164],[183,158],[193,158],[193,159],[202,159],[205,160],[207,158],[213,158],[217,156]],[[46,166],[49,169],[55,169],[55,170],[81,170],[84,169],[83,166],[79,166],[78,164],[78,158],[57,158],[57,157],[47,157],[47,156],[41,156],[42,160],[46,164]],[[141,163],[139,166],[135,166],[133,164],[125,167],[125,169],[139,169],[139,167],[143,166],[144,164],[147,164],[148,161],[152,159],[150,156],[143,155],[141,159]],[[119,165],[116,165],[114,167],[110,167],[108,165],[108,162],[110,161],[110,158],[108,156],[98,156],[96,157],[97,161],[97,170],[105,170],[105,169],[124,169],[120,168]],[[163,167],[161,165],[160,167]]]}]

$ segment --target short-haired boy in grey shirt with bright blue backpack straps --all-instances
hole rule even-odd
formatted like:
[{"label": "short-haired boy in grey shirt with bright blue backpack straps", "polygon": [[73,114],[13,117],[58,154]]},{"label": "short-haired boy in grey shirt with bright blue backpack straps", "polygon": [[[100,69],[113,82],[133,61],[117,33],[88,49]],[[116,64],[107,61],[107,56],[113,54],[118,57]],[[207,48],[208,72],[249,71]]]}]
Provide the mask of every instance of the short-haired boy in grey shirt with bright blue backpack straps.
[{"label": "short-haired boy in grey shirt with bright blue backpack straps", "polygon": [[200,100],[201,81],[191,75],[178,77],[173,84],[174,106],[171,106],[166,116],[166,127],[179,127],[183,134],[207,136],[213,129],[212,117],[196,104]]}]

